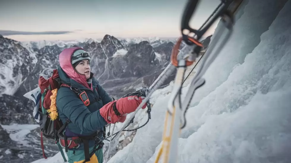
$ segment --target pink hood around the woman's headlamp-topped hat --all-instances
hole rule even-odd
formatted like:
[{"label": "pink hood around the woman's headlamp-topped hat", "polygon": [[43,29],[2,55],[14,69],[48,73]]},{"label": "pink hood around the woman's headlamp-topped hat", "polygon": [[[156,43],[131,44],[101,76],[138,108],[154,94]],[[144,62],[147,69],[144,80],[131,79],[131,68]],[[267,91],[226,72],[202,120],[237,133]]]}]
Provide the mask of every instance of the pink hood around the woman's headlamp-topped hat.
[{"label": "pink hood around the woman's headlamp-topped hat", "polygon": [[92,89],[89,87],[85,75],[79,74],[78,72],[75,71],[72,62],[71,62],[71,57],[74,51],[82,49],[80,47],[72,47],[72,48],[67,48],[64,49],[60,55],[59,55],[59,62],[61,68],[64,70],[64,72],[68,75],[69,78],[76,80],[78,83],[82,84],[86,88]]}]

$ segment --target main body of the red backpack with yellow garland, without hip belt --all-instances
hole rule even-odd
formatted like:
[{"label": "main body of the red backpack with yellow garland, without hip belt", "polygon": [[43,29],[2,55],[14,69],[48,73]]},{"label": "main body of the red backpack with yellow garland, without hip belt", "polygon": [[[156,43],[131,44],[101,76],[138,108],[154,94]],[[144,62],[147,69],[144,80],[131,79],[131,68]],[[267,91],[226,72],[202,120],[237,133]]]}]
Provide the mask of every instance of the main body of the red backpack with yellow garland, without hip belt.
[{"label": "main body of the red backpack with yellow garland, without hip belt", "polygon": [[[44,70],[45,71],[45,70]],[[49,77],[49,78],[48,78]],[[58,70],[53,69],[49,72],[48,76],[44,74],[39,77],[38,86],[40,89],[41,99],[39,100],[39,113],[40,118],[40,129],[41,129],[41,147],[42,155],[45,159],[47,156],[44,152],[43,145],[43,136],[47,139],[55,141],[58,145],[61,154],[66,162],[62,147],[59,143],[59,135],[64,131],[64,129],[69,124],[70,120],[68,119],[65,124],[58,118],[58,112],[56,108],[56,95],[58,89],[61,87],[62,82],[58,75]]]}]

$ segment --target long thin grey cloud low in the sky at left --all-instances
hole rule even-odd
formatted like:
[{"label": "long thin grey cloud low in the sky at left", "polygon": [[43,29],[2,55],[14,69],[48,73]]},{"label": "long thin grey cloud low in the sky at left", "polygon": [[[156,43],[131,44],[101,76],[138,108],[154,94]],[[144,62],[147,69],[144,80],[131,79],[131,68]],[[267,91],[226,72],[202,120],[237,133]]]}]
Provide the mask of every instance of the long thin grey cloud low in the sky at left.
[{"label": "long thin grey cloud low in the sky at left", "polygon": [[0,30],[0,35],[9,36],[9,35],[35,35],[35,34],[67,34],[72,31],[43,31],[43,32],[26,32],[26,31],[4,31]]}]

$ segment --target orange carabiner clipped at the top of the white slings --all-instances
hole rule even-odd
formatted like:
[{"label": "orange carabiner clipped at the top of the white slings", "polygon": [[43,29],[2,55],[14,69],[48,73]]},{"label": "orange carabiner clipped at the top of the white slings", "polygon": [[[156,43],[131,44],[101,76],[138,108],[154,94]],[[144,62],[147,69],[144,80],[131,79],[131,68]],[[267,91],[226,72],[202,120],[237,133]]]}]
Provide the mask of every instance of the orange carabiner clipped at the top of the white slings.
[{"label": "orange carabiner clipped at the top of the white slings", "polygon": [[[188,39],[190,41],[192,41],[194,44],[196,44],[197,46],[200,46],[200,47],[203,47],[203,44],[198,41],[197,39],[194,39],[192,37],[189,37],[188,36]],[[179,48],[180,48],[180,45],[181,45],[181,42],[183,40],[183,37],[180,37],[178,39],[178,41],[176,42],[176,44],[174,45],[174,48],[172,50],[172,54],[171,54],[171,63],[175,66],[175,67],[178,67],[178,60],[177,60],[177,56],[178,56],[178,53],[179,53]],[[195,62],[194,61],[187,61],[186,60],[186,66],[190,66],[192,65],[193,63]]]}]

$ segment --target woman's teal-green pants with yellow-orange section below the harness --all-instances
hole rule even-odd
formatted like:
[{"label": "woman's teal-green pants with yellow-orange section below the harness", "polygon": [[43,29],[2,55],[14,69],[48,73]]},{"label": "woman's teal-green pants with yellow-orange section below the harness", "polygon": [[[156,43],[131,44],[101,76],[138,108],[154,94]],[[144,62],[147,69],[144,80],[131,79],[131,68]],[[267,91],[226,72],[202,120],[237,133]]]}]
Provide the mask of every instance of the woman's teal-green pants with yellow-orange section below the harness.
[{"label": "woman's teal-green pants with yellow-orange section below the harness", "polygon": [[[94,147],[89,148],[90,153],[93,151]],[[68,151],[66,152],[68,156],[68,163],[82,163],[85,160],[85,155],[83,150],[78,151]],[[95,152],[95,155],[93,155],[90,158],[89,162],[86,163],[102,163],[103,162],[103,149],[99,149]]]}]

